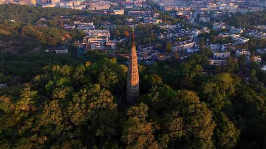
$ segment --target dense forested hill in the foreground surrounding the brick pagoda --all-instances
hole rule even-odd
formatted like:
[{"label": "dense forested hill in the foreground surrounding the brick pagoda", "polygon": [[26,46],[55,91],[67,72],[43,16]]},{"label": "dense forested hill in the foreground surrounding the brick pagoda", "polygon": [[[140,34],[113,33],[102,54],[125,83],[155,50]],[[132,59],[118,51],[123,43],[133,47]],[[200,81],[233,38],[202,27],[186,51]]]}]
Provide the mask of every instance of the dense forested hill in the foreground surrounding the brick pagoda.
[{"label": "dense forested hill in the foreground surrounding the brick pagoda", "polygon": [[[263,149],[266,89],[253,74],[201,73],[204,55],[139,65],[141,99],[118,110],[127,67],[88,53],[0,90],[0,149]],[[10,78],[0,75],[0,81]]]}]

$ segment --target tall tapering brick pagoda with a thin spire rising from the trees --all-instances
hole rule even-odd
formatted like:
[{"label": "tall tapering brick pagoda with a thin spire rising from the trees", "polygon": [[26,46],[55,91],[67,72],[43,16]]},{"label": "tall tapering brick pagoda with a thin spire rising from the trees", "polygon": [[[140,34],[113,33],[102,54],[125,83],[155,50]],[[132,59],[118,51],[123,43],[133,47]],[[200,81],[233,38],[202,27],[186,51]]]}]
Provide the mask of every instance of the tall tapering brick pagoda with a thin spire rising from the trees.
[{"label": "tall tapering brick pagoda with a thin spire rising from the trees", "polygon": [[132,29],[132,47],[130,51],[128,81],[127,81],[127,102],[136,103],[139,98],[139,81],[136,46],[134,44],[134,28]]}]

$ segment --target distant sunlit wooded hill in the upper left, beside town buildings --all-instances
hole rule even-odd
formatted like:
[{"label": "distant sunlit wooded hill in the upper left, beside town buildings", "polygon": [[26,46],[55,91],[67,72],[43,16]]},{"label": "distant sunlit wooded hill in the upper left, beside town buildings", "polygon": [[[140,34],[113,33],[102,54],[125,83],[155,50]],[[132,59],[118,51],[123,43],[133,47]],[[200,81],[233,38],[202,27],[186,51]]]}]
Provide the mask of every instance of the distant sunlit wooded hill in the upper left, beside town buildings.
[{"label": "distant sunlit wooded hill in the upper left, beside town buildings", "polygon": [[[0,51],[23,53],[55,46],[63,40],[78,36],[77,30],[66,31],[58,18],[77,15],[82,11],[60,8],[41,8],[17,4],[0,5]],[[36,25],[40,18],[47,19],[46,25]]]}]

